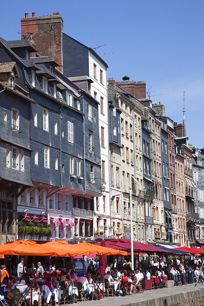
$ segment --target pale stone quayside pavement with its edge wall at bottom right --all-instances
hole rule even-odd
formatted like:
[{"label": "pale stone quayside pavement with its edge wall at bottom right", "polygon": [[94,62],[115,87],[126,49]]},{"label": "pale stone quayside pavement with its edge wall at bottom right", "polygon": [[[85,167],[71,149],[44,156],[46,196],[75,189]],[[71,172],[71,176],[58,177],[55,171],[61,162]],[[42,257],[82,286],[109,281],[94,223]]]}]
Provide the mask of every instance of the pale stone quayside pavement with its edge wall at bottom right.
[{"label": "pale stone quayside pavement with its edge wall at bottom right", "polygon": [[[186,300],[191,298],[193,290],[195,288],[194,284],[187,284],[184,287],[174,286],[173,288],[163,288],[157,290],[147,290],[144,293],[137,293],[135,295],[127,295],[125,297],[105,297],[100,300],[95,301],[85,301],[82,302],[82,306],[90,306],[93,303],[94,306],[119,306],[119,305],[137,305],[137,302],[143,301],[142,305],[162,305],[165,303],[162,298],[166,298],[168,301],[167,305],[181,300]],[[203,294],[204,284],[198,283],[195,289],[194,297],[200,297]],[[145,303],[146,300],[146,303]],[[148,301],[147,301],[148,300]],[[158,300],[158,301],[157,301]],[[138,305],[141,303],[138,303]],[[199,305],[199,304],[197,304]]]}]

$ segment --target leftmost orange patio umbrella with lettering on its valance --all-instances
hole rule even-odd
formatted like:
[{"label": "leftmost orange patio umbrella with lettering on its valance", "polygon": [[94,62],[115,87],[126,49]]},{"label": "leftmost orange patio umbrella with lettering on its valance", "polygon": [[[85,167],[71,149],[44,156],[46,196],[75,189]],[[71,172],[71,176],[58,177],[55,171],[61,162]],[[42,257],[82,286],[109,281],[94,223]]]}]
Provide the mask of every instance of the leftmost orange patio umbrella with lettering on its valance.
[{"label": "leftmost orange patio umbrella with lettering on its valance", "polygon": [[46,244],[37,244],[35,241],[18,240],[10,244],[0,245],[0,255],[20,256],[77,256],[78,252],[63,250],[62,248],[50,248]]}]

